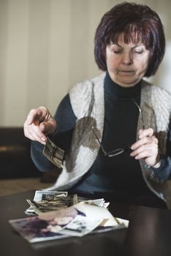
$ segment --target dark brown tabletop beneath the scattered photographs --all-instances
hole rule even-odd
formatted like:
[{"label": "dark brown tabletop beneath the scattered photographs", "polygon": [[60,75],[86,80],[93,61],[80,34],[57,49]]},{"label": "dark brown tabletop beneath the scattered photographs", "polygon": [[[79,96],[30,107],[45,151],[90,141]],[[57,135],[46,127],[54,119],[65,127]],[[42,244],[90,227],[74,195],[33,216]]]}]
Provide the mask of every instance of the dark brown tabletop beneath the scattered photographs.
[{"label": "dark brown tabletop beneath the scattered photographs", "polygon": [[68,256],[165,256],[171,255],[171,211],[145,206],[129,206],[110,202],[115,217],[129,219],[129,227],[82,238],[64,238],[29,244],[9,225],[9,219],[26,217],[26,199],[34,191],[1,196],[0,255],[68,255]]}]

